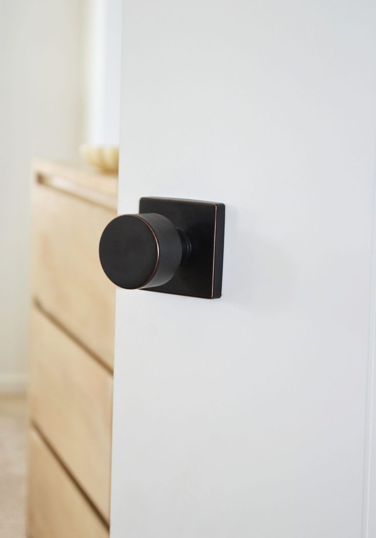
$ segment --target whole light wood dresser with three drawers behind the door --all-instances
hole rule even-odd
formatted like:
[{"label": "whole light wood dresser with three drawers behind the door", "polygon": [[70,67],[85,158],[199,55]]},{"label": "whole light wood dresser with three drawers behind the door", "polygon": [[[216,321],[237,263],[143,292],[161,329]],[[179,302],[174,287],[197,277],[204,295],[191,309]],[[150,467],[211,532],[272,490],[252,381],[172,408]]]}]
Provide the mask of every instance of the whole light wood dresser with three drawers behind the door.
[{"label": "whole light wood dresser with three drawers behind the door", "polygon": [[34,161],[29,538],[109,536],[115,289],[98,244],[117,178]]}]

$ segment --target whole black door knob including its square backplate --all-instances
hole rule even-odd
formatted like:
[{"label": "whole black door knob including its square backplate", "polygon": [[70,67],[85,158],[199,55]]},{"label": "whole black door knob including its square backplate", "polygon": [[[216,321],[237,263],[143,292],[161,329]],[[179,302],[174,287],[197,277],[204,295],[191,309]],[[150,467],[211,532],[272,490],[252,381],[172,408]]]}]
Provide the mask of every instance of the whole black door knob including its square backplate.
[{"label": "whole black door knob including its square backplate", "polygon": [[139,213],[119,215],[103,230],[100,261],[120,288],[221,296],[224,205],[141,198]]}]

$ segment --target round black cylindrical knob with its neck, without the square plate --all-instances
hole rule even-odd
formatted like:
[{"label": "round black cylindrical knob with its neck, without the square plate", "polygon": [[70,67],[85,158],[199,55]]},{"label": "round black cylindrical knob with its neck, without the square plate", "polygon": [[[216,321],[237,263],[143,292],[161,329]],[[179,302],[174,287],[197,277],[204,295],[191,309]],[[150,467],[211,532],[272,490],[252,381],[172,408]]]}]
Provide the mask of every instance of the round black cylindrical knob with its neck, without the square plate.
[{"label": "round black cylindrical knob with its neck, without the square plate", "polygon": [[158,213],[120,215],[103,230],[99,255],[108,278],[126,289],[161,286],[189,256],[187,236]]}]

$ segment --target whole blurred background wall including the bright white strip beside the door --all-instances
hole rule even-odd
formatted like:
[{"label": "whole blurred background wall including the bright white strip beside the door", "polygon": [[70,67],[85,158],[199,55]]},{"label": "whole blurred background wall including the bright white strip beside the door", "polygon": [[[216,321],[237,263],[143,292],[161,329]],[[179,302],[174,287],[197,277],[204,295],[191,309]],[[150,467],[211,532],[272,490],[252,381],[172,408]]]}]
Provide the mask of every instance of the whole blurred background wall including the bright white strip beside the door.
[{"label": "whole blurred background wall including the bright white strip beside the door", "polygon": [[0,392],[25,386],[32,157],[118,144],[120,0],[0,0]]}]

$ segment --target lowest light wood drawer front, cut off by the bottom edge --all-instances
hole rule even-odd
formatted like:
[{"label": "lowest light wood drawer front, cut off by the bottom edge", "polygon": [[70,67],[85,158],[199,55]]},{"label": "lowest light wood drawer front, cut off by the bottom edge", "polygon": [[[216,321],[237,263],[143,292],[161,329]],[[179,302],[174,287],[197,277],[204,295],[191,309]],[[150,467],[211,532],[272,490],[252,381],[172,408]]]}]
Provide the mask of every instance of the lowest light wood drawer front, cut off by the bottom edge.
[{"label": "lowest light wood drawer front, cut off by the bottom edge", "polygon": [[28,536],[108,538],[109,531],[41,440],[29,431]]}]

